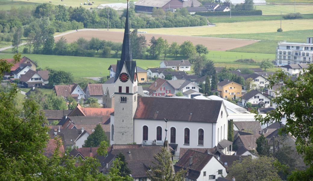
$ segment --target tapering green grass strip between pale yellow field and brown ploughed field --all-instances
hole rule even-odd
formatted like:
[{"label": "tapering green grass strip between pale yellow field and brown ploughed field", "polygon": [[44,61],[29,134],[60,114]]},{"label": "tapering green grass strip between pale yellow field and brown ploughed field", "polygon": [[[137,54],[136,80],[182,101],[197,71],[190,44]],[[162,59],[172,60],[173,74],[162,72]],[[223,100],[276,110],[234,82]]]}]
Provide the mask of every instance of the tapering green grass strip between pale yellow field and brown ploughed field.
[{"label": "tapering green grass strip between pale yellow field and brown ploughed field", "polygon": [[205,37],[219,37],[219,38],[239,38],[239,39],[253,39],[253,40],[269,40],[269,41],[293,41],[306,42],[307,37],[313,35],[313,29],[270,32],[270,33],[246,33],[246,34],[220,34],[220,35],[202,35]]}]

